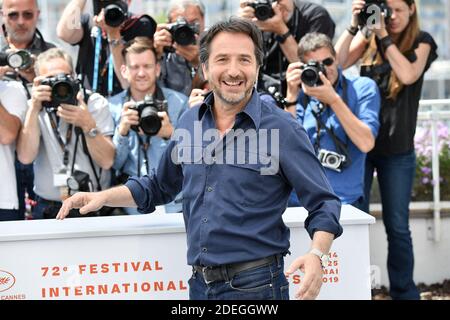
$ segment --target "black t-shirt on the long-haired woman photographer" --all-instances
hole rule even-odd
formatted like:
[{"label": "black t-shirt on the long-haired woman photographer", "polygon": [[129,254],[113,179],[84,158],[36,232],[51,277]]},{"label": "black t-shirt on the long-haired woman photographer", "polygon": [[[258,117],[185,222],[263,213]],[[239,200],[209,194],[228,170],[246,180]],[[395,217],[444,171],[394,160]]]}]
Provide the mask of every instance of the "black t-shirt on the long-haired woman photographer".
[{"label": "black t-shirt on the long-haired woman photographer", "polygon": [[[419,110],[423,78],[431,63],[437,58],[437,45],[429,33],[424,31],[419,33],[413,50],[417,49],[420,43],[427,43],[431,46],[425,69],[420,78],[413,84],[404,86],[395,100],[387,99],[386,90],[379,85],[381,93],[380,129],[371,154],[393,155],[414,150],[414,135],[416,133],[417,112]],[[414,51],[406,55],[406,57],[410,62],[414,62],[417,59]],[[377,82],[388,83],[390,71],[389,67],[387,72],[384,72]]]}]

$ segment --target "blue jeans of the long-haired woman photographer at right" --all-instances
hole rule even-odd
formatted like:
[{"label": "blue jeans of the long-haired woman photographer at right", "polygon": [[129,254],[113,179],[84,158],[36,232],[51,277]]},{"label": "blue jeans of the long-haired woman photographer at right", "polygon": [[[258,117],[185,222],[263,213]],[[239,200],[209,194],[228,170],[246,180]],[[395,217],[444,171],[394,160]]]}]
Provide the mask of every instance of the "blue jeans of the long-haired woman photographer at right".
[{"label": "blue jeans of the long-haired woman photographer at right", "polygon": [[368,154],[365,173],[365,203],[369,212],[370,189],[376,169],[388,240],[387,268],[393,299],[419,299],[414,284],[414,253],[409,230],[409,202],[416,170],[416,155],[374,156]]}]

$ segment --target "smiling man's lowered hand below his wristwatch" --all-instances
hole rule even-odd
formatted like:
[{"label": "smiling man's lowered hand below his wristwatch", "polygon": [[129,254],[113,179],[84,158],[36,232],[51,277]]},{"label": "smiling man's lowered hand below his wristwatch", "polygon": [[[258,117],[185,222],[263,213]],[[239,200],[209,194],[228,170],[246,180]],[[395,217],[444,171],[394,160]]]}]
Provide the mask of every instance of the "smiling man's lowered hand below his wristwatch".
[{"label": "smiling man's lowered hand below his wristwatch", "polygon": [[294,260],[286,270],[286,276],[300,269],[304,273],[299,290],[295,298],[300,300],[314,300],[317,298],[322,287],[323,270],[320,259],[308,253]]}]

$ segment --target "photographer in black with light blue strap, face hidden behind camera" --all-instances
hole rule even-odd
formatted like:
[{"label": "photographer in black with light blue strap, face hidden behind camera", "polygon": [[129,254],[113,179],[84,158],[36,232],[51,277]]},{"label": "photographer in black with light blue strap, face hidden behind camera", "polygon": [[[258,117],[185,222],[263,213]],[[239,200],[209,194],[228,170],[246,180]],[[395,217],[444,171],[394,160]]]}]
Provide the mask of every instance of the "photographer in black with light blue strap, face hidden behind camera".
[{"label": "photographer in black with light blue strap, face hidden behind camera", "polygon": [[153,37],[156,22],[148,15],[133,16],[126,1],[94,0],[94,17],[81,14],[86,0],[72,0],[57,26],[62,40],[79,46],[76,71],[86,89],[112,96],[128,87],[120,73],[122,49],[136,36]]}]

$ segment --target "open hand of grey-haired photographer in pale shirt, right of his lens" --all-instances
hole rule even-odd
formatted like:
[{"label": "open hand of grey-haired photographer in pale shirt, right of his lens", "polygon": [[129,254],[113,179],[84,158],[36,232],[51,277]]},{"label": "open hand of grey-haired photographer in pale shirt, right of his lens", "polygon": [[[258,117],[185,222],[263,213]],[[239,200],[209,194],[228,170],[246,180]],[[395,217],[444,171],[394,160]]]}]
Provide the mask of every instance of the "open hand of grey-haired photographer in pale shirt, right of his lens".
[{"label": "open hand of grey-haired photographer in pale shirt, right of his lens", "polygon": [[57,115],[76,127],[80,127],[83,132],[87,133],[96,127],[96,123],[91,113],[88,111],[86,103],[84,103],[81,93],[78,93],[78,106],[70,104],[61,104],[58,107]]}]

